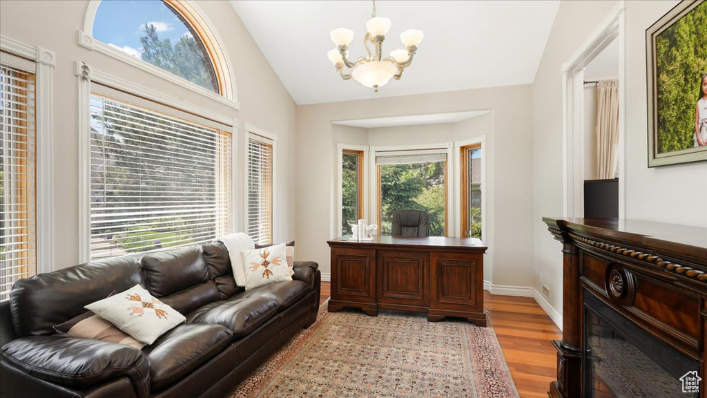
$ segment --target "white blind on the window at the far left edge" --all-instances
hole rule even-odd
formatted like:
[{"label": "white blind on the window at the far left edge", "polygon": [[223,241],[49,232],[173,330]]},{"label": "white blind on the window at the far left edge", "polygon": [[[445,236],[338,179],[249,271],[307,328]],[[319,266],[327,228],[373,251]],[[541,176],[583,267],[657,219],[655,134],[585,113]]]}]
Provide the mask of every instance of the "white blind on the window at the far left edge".
[{"label": "white blind on the window at the far left edge", "polygon": [[[15,61],[15,62],[13,62]],[[20,69],[15,65],[23,65]],[[35,64],[0,62],[0,299],[37,272],[35,236]]]}]

